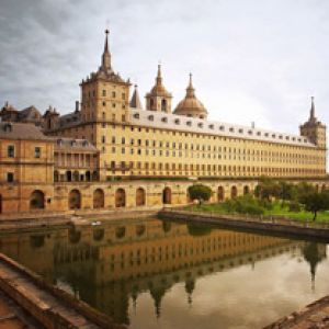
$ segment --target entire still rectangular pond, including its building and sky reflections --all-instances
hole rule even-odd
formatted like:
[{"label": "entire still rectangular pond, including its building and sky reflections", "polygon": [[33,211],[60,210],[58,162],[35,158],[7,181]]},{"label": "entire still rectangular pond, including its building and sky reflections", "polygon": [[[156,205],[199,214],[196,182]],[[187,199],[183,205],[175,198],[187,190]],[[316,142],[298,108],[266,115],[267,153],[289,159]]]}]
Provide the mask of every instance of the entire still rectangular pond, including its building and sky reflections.
[{"label": "entire still rectangular pond, including its building and sky reflections", "polygon": [[159,219],[0,236],[129,328],[261,328],[329,294],[327,245]]}]

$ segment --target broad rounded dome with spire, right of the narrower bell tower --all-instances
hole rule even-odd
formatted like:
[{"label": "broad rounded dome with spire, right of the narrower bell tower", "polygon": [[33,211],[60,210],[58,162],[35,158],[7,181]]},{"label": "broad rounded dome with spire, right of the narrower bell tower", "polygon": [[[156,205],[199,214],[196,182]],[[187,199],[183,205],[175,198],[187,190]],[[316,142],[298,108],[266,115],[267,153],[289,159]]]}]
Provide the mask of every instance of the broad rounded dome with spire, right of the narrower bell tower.
[{"label": "broad rounded dome with spire, right of the narrower bell tower", "polygon": [[181,102],[179,102],[179,104],[174,109],[173,114],[198,118],[207,117],[207,110],[205,109],[203,103],[195,97],[194,88],[192,86],[192,75],[190,75],[190,83],[186,88],[186,95]]}]

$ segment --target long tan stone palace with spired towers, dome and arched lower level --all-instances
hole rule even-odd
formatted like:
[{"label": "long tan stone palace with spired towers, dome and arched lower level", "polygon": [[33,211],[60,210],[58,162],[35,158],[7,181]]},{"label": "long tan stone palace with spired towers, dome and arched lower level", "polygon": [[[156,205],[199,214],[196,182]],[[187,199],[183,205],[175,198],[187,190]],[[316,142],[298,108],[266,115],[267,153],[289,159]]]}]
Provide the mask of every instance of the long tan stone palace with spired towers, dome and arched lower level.
[{"label": "long tan stone palace with spired towers, dome and arched lower level", "polygon": [[137,87],[131,98],[132,83],[113,70],[107,34],[73,112],[2,107],[1,213],[184,204],[196,179],[213,189],[213,201],[251,192],[261,175],[329,186],[314,99],[299,135],[212,122],[192,75],[172,112],[159,65],[144,110]]}]

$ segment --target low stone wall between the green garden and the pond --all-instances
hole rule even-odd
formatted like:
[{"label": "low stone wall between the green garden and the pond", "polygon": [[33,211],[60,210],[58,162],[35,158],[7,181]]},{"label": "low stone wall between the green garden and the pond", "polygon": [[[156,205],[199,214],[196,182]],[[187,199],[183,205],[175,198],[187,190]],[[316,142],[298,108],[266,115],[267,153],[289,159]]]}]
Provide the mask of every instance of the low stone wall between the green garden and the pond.
[{"label": "low stone wall between the green garden and the pond", "polygon": [[230,220],[243,220],[243,222],[257,222],[264,224],[275,224],[275,225],[285,225],[285,226],[296,226],[296,227],[305,227],[305,228],[316,228],[316,229],[329,229],[329,223],[319,223],[313,220],[300,220],[300,219],[292,219],[284,216],[277,215],[250,215],[250,214],[223,214],[218,212],[204,212],[203,209],[189,208],[185,207],[163,207],[163,211],[171,213],[179,213],[185,215],[201,215],[203,217],[212,217],[212,218],[223,218]]}]

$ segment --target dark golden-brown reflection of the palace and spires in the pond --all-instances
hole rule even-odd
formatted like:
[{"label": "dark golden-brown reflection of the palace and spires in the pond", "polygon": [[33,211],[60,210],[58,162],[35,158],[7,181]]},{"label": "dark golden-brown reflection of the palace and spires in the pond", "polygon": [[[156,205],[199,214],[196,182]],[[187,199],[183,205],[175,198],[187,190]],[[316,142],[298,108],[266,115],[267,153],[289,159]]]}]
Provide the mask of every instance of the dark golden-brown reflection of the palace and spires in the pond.
[{"label": "dark golden-brown reflection of the palace and spires in the pond", "polygon": [[326,258],[326,245],[159,219],[12,234],[0,242],[1,252],[124,324],[129,300],[136,310],[145,292],[160,317],[161,300],[177,283],[184,283],[192,305],[197,279],[209,273],[302,252],[315,282]]}]

